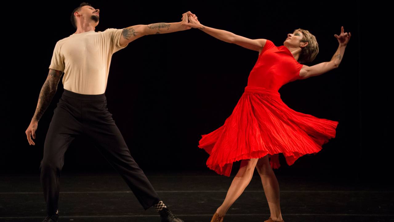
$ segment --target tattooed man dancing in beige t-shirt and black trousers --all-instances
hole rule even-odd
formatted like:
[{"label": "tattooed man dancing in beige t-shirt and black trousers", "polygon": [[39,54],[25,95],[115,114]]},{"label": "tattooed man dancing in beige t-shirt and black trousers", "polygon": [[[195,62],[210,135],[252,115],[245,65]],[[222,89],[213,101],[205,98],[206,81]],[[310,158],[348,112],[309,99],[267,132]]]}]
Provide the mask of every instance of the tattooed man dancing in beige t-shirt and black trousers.
[{"label": "tattooed man dancing in beige t-shirt and black trousers", "polygon": [[145,210],[154,206],[162,222],[183,222],[169,211],[130,151],[107,109],[104,94],[112,54],[142,36],[190,29],[188,11],[182,22],[135,25],[123,29],[108,28],[95,32],[100,10],[82,3],[71,14],[76,32],[59,40],[54,48],[48,77],[41,88],[37,108],[26,130],[30,145],[35,145],[38,121],[56,93],[62,73],[64,92],[54,111],[44,143],[41,160],[41,184],[48,216],[44,222],[58,221],[59,179],[64,153],[73,139],[85,136],[126,181]]}]

